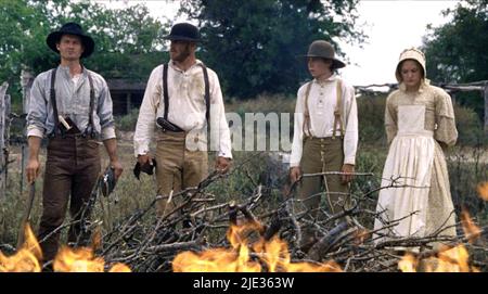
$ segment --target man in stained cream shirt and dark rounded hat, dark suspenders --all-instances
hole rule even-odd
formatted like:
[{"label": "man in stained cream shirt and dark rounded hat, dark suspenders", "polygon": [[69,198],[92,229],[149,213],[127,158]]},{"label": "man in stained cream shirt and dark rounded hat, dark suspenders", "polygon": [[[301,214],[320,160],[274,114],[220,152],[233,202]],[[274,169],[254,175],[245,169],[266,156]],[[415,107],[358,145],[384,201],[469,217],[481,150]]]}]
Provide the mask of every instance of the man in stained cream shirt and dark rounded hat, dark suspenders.
[{"label": "man in stained cream shirt and dark rounded hat, dark suspenders", "polygon": [[151,73],[134,133],[134,155],[142,167],[152,164],[150,142],[157,142],[157,189],[164,196],[157,204],[159,216],[178,206],[181,197],[172,194],[198,186],[207,176],[207,126],[210,149],[217,151],[215,168],[226,171],[232,158],[218,76],[195,56],[198,29],[179,23],[166,39],[171,41],[170,61]]}]

